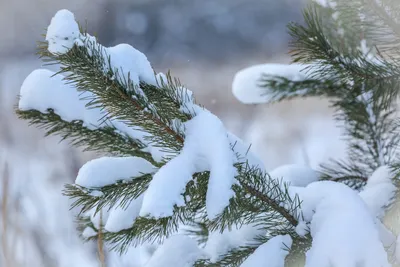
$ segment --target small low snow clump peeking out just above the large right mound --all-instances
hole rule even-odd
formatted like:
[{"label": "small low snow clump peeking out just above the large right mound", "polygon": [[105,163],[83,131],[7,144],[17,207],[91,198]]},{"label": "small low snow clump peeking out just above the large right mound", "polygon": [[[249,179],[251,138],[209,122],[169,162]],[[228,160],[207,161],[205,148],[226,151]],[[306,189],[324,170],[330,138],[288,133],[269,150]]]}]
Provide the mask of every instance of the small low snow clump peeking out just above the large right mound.
[{"label": "small low snow clump peeking out just above the large right mound", "polygon": [[310,167],[287,164],[277,167],[269,172],[271,178],[276,180],[283,180],[290,183],[291,186],[307,186],[312,182],[319,180],[320,176],[317,171]]}]

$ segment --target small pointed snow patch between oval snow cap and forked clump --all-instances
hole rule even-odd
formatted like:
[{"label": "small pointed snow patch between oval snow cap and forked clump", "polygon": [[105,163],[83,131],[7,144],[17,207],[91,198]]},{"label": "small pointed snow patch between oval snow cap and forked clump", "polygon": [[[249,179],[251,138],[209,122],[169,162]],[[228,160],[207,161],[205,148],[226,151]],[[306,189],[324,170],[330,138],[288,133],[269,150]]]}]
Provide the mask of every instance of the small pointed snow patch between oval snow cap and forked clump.
[{"label": "small pointed snow patch between oval snow cap and forked clump", "polygon": [[108,232],[119,232],[132,227],[135,219],[139,216],[142,206],[143,194],[129,202],[126,207],[121,206],[121,199],[109,211],[109,216],[104,229]]}]

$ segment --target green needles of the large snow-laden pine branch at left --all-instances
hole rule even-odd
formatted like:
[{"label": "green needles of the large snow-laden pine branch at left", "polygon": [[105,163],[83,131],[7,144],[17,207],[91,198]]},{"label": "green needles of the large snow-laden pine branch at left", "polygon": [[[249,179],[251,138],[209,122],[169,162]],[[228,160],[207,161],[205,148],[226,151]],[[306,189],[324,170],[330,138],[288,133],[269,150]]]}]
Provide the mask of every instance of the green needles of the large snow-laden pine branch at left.
[{"label": "green needles of the large snow-laden pine branch at left", "polygon": [[[127,126],[149,133],[150,136],[145,141],[152,146],[162,147],[170,154],[180,152],[185,138],[182,123],[196,114],[192,110],[192,96],[179,81],[168,75],[167,81],[158,85],[144,82],[134,84],[130,74],[125,75],[122,69],[114,69],[104,48],[90,40],[86,40],[83,46],[75,45],[69,52],[60,55],[49,54],[47,45],[44,44],[39,49],[44,61],[60,65],[57,74],[64,75],[66,83],[73,84],[78,91],[93,95],[91,99],[86,99],[89,100],[87,108],[105,110],[105,120],[119,120]],[[62,121],[52,110],[46,114],[35,111],[21,111],[19,114],[33,124],[45,127],[48,134],[59,133],[63,138],[72,139],[73,144],[86,145],[96,151],[106,146],[103,147],[104,150],[121,154],[131,149],[130,153],[135,153],[135,156],[154,162],[150,160],[149,153],[142,152],[147,144],[122,135],[112,135],[115,131],[111,132],[110,128],[91,131],[83,127],[82,122]],[[108,139],[115,140],[105,140],[105,135]],[[162,167],[165,163],[163,161],[154,165]],[[200,223],[206,223],[209,230],[220,231],[234,225],[254,223],[262,229],[270,229],[274,235],[288,232],[294,235],[293,229],[299,216],[298,198],[292,199],[286,185],[271,179],[260,169],[250,168],[247,163],[237,164],[236,168],[239,185],[233,188],[235,197],[230,205],[214,221],[207,221],[202,217]],[[143,175],[102,188],[68,185],[64,193],[75,199],[73,207],[79,207],[81,213],[93,208],[99,212],[102,208],[117,205],[121,196],[124,197],[120,204],[122,206],[137,198],[145,192],[151,178],[151,175]],[[193,224],[196,216],[204,214],[208,179],[208,172],[193,176],[184,193],[185,206],[175,206],[171,217],[136,218],[129,229],[117,233],[102,232],[103,240],[122,253],[129,246],[145,241],[161,242],[176,232],[182,224]],[[88,220],[84,219],[82,222],[89,227],[93,226]]]}]

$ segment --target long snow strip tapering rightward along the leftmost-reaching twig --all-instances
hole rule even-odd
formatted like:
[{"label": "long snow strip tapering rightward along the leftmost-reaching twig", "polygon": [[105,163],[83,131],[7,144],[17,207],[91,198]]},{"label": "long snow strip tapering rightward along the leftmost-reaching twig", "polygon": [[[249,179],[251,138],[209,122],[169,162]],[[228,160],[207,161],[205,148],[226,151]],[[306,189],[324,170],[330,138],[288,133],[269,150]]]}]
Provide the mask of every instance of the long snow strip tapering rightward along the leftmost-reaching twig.
[{"label": "long snow strip tapering rightward along the leftmost-reaching twig", "polygon": [[38,110],[47,113],[49,108],[61,117],[71,122],[81,120],[88,129],[97,129],[105,126],[114,126],[120,133],[140,140],[147,147],[145,151],[151,153],[155,161],[160,162],[166,154],[162,149],[149,144],[146,137],[150,135],[140,127],[128,127],[119,120],[103,122],[107,113],[100,108],[86,108],[93,95],[89,92],[78,92],[71,84],[64,82],[64,76],[46,69],[37,69],[31,72],[24,80],[20,91],[18,108],[20,110]]}]

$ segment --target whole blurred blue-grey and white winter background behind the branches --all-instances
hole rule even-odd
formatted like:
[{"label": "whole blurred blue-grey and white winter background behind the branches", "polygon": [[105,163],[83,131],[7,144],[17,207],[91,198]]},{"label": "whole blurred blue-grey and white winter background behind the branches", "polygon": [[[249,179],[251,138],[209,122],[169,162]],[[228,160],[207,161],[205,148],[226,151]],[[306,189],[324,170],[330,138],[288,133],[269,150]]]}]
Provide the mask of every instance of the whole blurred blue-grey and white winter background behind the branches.
[{"label": "whole blurred blue-grey and white winter background behind the branches", "polygon": [[[24,78],[41,67],[36,41],[56,11],[71,10],[102,44],[129,43],[157,72],[171,70],[271,169],[316,167],[343,150],[325,100],[253,106],[231,93],[240,69],[290,62],[286,24],[302,21],[304,1],[0,0],[0,267],[100,266],[96,244],[79,239],[62,196],[96,155],[44,139],[13,111]],[[110,253],[107,266],[140,266],[134,257]]]}]

